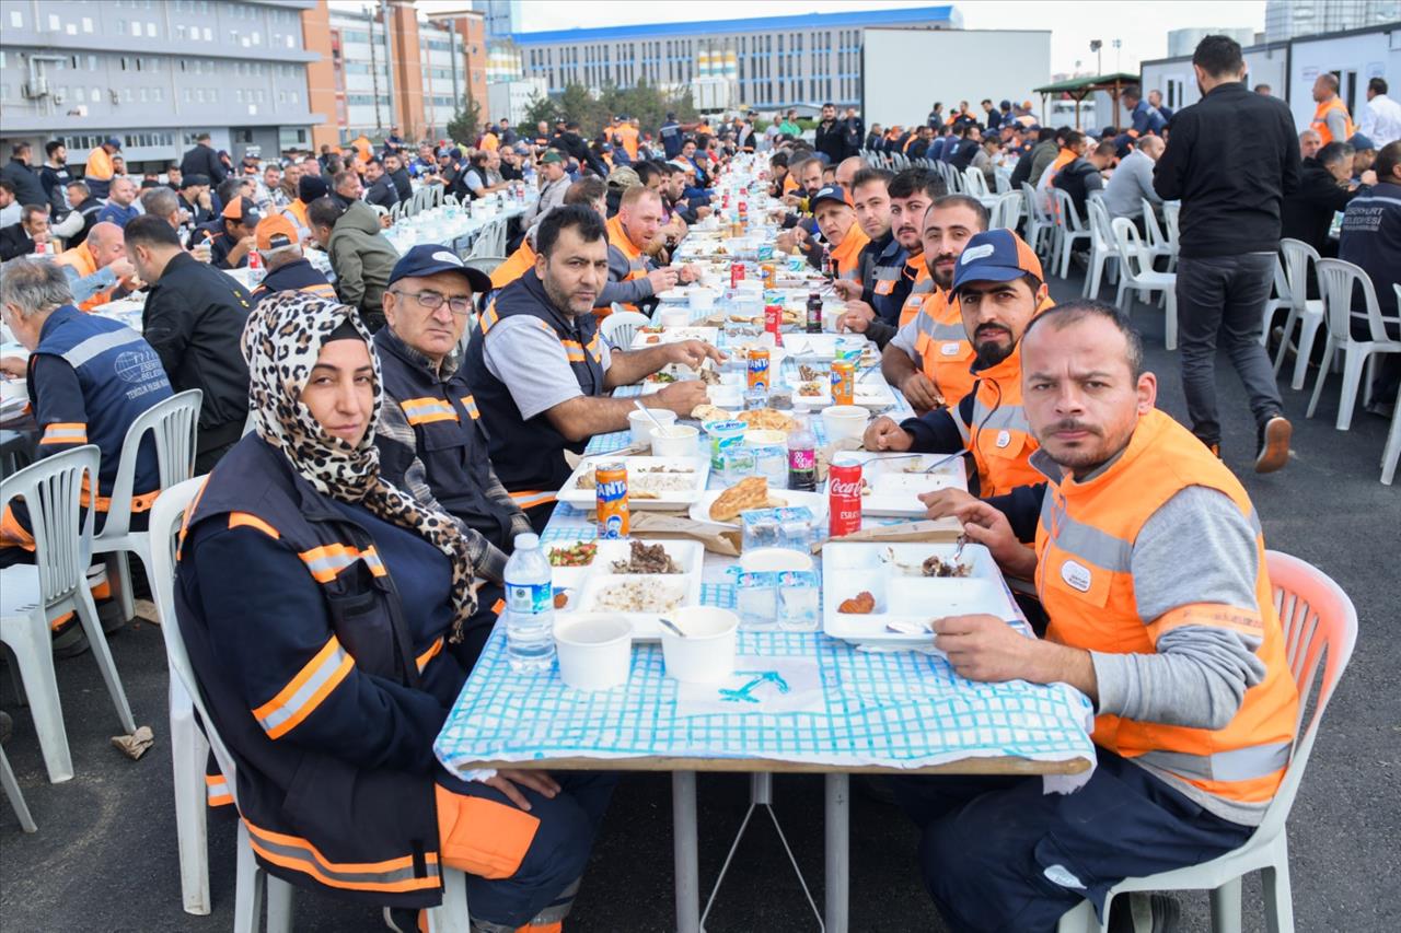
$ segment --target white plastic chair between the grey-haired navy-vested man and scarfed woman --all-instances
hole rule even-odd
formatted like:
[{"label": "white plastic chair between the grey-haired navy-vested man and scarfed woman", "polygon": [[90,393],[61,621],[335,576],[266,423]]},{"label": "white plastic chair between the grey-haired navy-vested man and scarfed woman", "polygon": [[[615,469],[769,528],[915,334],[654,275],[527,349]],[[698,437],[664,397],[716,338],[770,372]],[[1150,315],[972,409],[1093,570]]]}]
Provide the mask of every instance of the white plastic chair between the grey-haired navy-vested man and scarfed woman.
[{"label": "white plastic chair between the grey-haired navy-vested man and scarfed woman", "polygon": [[160,489],[189,479],[195,469],[195,434],[199,430],[199,406],[205,394],[186,389],[151,405],[126,429],[122,438],[122,459],[116,466],[116,482],[112,483],[112,507],[106,513],[102,531],[92,538],[92,553],[115,555],[118,588],[122,597],[122,618],[130,619],[136,612],[132,602],[132,563],[134,553],[147,569],[150,581],[150,535],[132,531],[132,489],[136,482],[136,458],[142,441],[150,433],[156,441],[156,462],[160,472]]}]

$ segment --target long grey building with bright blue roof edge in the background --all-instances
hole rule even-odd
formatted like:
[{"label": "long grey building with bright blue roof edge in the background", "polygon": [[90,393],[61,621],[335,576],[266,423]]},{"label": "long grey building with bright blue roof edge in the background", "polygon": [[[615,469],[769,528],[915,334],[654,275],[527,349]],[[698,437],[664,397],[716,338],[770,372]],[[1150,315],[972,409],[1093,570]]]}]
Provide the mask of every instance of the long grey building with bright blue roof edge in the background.
[{"label": "long grey building with bright blue roof edge in the background", "polygon": [[[482,0],[478,0],[482,1]],[[955,7],[857,10],[706,22],[658,22],[514,32],[525,77],[545,78],[551,94],[567,84],[633,87],[646,80],[667,91],[723,83],[709,99],[771,109],[862,99],[866,27],[960,29]],[[712,88],[713,90],[713,88]]]}]

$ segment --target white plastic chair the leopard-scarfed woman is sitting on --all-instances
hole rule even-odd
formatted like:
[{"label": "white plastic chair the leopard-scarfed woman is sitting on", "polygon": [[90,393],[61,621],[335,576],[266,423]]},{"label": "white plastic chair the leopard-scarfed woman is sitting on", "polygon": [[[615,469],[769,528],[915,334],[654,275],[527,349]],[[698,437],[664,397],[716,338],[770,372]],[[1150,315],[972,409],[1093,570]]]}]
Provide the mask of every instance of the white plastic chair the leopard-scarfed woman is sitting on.
[{"label": "white plastic chair the leopard-scarfed woman is sitting on", "polygon": [[[175,822],[179,834],[181,888],[185,911],[209,913],[209,841],[205,822],[205,761],[214,752],[219,769],[228,783],[228,792],[238,806],[238,780],[234,758],[228,752],[214,720],[205,707],[199,679],[185,650],[185,637],[175,618],[175,551],[172,537],[181,527],[185,510],[195,499],[205,476],[186,479],[167,489],[151,509],[153,539],[170,542],[153,548],[151,593],[161,618],[161,637],[171,670],[171,752],[175,769]],[[195,724],[195,713],[203,731]],[[179,717],[177,719],[177,714]],[[467,909],[467,876],[446,866],[443,873],[443,905],[427,912],[430,933],[458,933],[471,926]],[[259,927],[263,901],[268,909],[268,933],[291,933],[293,887],[268,874],[254,857],[248,842],[248,827],[238,822],[238,859],[234,894],[234,933],[254,933]],[[195,885],[193,890],[188,885]],[[195,899],[192,899],[192,897]],[[192,909],[193,908],[193,909]],[[202,908],[202,909],[199,909]]]}]

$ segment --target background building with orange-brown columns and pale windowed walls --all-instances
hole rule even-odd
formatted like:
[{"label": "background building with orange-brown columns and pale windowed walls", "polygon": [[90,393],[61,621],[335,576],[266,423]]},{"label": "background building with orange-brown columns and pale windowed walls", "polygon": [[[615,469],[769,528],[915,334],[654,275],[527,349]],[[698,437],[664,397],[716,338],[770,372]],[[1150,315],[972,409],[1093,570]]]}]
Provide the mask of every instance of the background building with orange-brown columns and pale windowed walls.
[{"label": "background building with orange-brown columns and pale windowed walls", "polygon": [[[388,28],[385,28],[388,14]],[[420,21],[412,0],[331,11],[335,126],[342,139],[439,137],[467,94],[486,116],[483,17],[467,11]]]}]

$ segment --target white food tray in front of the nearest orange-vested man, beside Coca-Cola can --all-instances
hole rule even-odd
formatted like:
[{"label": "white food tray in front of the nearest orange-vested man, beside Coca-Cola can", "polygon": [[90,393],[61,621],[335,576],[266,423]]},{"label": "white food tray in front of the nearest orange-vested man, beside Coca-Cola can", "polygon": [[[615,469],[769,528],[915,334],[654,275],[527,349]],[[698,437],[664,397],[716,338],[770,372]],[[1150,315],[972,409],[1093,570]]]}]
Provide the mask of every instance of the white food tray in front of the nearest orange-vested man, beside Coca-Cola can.
[{"label": "white food tray in front of the nearest orange-vested man, beside Coca-Cola can", "polygon": [[[855,644],[933,647],[933,619],[975,612],[1020,618],[1002,572],[982,545],[964,546],[958,563],[971,567],[967,577],[913,576],[895,563],[918,567],[932,555],[953,560],[955,548],[933,542],[828,544],[822,548],[822,630]],[[894,560],[885,559],[890,556]],[[870,614],[838,611],[863,591],[876,598]]]}]

